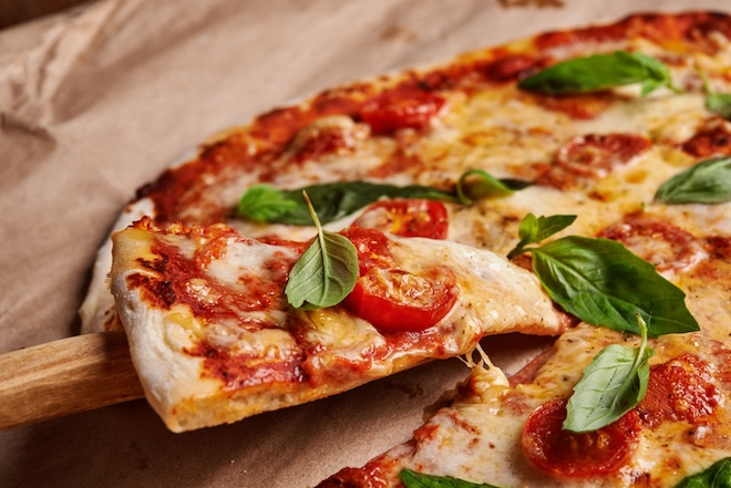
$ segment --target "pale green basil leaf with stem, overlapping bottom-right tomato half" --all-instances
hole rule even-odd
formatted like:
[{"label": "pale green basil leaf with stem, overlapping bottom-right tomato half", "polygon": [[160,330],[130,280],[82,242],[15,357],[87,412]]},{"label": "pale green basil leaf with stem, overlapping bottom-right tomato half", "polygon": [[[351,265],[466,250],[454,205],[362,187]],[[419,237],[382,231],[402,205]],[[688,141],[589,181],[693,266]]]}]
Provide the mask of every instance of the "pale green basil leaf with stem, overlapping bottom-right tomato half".
[{"label": "pale green basil leaf with stem, overlapping bottom-right tomato half", "polygon": [[647,393],[648,360],[655,351],[647,346],[647,326],[638,314],[639,347],[611,344],[603,349],[581,372],[581,381],[566,405],[564,429],[576,433],[597,430],[618,420]]}]

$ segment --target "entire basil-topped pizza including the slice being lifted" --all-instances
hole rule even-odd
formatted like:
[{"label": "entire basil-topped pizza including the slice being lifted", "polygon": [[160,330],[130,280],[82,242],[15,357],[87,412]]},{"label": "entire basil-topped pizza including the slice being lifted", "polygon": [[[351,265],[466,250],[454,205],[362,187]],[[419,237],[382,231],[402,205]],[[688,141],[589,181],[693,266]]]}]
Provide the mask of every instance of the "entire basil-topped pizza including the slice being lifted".
[{"label": "entire basil-topped pizza including the slice being lifted", "polygon": [[[323,487],[722,486],[729,65],[731,17],[635,14],[272,110],[137,190],[83,330],[175,432],[464,360]],[[506,377],[507,332],[556,340]]]}]

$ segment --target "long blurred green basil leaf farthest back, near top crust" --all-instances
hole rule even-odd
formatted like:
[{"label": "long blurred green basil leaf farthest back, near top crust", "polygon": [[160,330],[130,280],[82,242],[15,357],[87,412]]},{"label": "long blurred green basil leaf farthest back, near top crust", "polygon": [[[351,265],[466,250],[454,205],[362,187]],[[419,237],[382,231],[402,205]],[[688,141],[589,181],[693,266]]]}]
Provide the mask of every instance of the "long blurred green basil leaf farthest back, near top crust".
[{"label": "long blurred green basil leaf farthest back, near top crust", "polygon": [[617,51],[576,58],[554,64],[518,83],[522,90],[549,95],[588,93],[641,83],[642,96],[660,86],[672,85],[668,68],[639,52]]}]

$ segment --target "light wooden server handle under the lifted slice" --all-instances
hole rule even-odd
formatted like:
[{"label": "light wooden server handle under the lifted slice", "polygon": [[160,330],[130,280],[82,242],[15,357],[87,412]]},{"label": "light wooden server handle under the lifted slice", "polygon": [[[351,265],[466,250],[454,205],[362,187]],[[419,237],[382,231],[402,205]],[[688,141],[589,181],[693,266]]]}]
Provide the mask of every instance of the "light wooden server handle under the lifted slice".
[{"label": "light wooden server handle under the lifted slice", "polygon": [[0,355],[0,429],[143,396],[122,331]]}]

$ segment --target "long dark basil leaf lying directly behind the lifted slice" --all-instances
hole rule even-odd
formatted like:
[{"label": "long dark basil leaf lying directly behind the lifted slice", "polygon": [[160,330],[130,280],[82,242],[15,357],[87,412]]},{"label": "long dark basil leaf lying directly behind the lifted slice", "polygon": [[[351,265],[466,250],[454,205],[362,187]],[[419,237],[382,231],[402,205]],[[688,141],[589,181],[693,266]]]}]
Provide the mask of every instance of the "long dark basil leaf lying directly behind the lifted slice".
[{"label": "long dark basil leaf lying directly behind the lifted slice", "polygon": [[[251,190],[255,190],[257,194],[261,193],[257,187],[251,187],[244,194],[241,201],[248,203],[256,198],[256,195],[255,197],[249,197]],[[250,215],[248,212],[248,208],[253,206],[250,203],[245,205],[244,209],[241,209],[241,204],[239,203],[238,216],[267,222],[309,226],[312,224],[312,219],[307,203],[302,197],[302,191],[309,195],[312,206],[318,209],[317,215],[321,224],[341,219],[374,203],[381,197],[428,198],[440,201],[456,201],[456,198],[449,191],[429,186],[411,185],[400,187],[367,181],[328,183],[310,185],[295,190],[275,189],[275,191],[278,191],[276,197],[269,193],[265,194],[268,201],[276,201],[278,204],[276,209],[272,209],[270,214],[266,215],[266,219],[257,218],[260,214]],[[287,203],[287,206],[281,205],[282,203]]]}]

